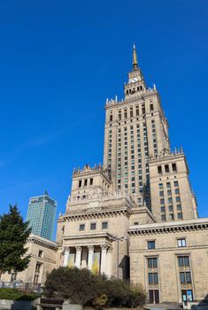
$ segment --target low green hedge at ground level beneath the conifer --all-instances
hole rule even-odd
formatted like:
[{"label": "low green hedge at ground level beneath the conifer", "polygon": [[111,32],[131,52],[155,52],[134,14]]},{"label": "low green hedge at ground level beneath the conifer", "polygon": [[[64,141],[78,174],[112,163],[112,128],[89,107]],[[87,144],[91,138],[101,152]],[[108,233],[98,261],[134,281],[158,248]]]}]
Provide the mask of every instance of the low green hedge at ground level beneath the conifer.
[{"label": "low green hedge at ground level beneath the conifer", "polygon": [[4,288],[0,289],[0,299],[12,299],[12,300],[34,300],[39,297],[36,293],[23,294],[18,289]]}]

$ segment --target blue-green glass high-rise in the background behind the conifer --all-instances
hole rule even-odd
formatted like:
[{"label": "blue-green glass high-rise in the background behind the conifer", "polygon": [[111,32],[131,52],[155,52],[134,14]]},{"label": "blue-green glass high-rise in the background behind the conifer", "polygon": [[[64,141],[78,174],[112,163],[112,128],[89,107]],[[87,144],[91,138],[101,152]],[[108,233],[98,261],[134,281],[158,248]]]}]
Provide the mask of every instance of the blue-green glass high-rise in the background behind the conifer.
[{"label": "blue-green glass high-rise in the background behind the conifer", "polygon": [[27,221],[32,234],[52,241],[56,221],[57,203],[45,190],[42,196],[29,199]]}]

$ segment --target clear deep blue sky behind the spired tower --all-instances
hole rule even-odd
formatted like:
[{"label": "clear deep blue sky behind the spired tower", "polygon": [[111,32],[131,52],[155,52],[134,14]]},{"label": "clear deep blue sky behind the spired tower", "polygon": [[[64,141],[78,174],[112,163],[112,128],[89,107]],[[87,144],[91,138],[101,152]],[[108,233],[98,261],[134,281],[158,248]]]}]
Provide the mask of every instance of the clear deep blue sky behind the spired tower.
[{"label": "clear deep blue sky behind the spired tower", "polygon": [[0,2],[0,213],[47,189],[65,212],[73,167],[103,161],[104,103],[123,97],[132,45],[208,216],[208,1]]}]

